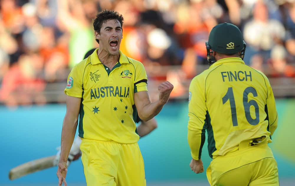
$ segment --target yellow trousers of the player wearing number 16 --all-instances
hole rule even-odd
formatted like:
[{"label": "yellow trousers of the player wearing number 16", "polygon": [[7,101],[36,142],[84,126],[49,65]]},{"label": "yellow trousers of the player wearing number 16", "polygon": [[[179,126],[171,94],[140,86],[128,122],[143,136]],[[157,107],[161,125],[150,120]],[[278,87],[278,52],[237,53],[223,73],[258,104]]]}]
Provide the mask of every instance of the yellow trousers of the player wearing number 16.
[{"label": "yellow trousers of the player wearing number 16", "polygon": [[277,186],[278,167],[267,144],[218,156],[207,169],[207,178],[214,186]]}]

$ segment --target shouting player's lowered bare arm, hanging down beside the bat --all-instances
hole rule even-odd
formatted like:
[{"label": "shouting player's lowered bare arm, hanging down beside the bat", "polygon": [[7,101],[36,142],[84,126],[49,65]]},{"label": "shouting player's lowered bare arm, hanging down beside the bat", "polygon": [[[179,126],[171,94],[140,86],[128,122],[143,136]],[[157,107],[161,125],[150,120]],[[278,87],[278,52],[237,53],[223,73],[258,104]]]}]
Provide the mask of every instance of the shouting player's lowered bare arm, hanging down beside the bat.
[{"label": "shouting player's lowered bare arm, hanging down beside the bat", "polygon": [[60,160],[58,171],[56,173],[59,186],[62,185],[62,182],[64,182],[66,186],[65,177],[67,174],[67,160],[76,134],[80,104],[81,98],[66,96],[67,111],[63,120]]}]

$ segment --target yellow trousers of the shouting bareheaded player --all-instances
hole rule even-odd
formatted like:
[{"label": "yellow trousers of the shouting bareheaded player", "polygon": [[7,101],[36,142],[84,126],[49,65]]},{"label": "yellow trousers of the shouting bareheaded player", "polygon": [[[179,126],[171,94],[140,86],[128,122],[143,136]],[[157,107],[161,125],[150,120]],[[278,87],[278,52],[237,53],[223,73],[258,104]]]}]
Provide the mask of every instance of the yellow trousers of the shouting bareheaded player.
[{"label": "yellow trousers of the shouting bareheaded player", "polygon": [[80,149],[87,186],[146,186],[137,143],[82,139]]}]

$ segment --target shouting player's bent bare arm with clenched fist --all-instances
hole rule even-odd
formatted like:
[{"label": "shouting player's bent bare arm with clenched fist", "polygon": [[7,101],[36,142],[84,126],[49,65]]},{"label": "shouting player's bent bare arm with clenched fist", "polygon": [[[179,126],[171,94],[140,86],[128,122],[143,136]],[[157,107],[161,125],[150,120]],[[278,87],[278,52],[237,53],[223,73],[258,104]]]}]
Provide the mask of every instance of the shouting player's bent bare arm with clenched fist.
[{"label": "shouting player's bent bare arm with clenched fist", "polygon": [[134,93],[134,102],[138,115],[143,121],[148,121],[157,115],[167,103],[173,85],[169,81],[161,83],[158,87],[159,99],[151,103],[148,91]]}]

